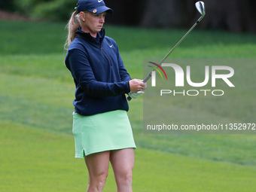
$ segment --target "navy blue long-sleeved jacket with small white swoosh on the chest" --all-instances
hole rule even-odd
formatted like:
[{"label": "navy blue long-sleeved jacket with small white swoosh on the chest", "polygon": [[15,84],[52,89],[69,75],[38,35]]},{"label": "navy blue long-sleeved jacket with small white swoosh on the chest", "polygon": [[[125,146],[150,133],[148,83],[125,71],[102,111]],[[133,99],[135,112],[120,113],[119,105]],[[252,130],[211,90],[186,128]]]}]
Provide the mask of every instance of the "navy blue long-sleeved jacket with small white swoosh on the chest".
[{"label": "navy blue long-sleeved jacket with small white swoosh on the chest", "polygon": [[98,37],[78,29],[66,54],[66,67],[76,86],[73,105],[84,116],[129,109],[125,93],[130,92],[131,78],[117,44],[104,29]]}]

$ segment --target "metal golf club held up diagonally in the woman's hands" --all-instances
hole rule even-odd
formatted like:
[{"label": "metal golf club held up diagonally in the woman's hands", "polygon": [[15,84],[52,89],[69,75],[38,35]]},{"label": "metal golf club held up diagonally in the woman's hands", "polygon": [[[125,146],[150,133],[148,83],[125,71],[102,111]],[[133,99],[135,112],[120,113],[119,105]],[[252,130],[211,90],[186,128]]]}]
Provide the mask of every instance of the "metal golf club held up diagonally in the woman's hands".
[{"label": "metal golf club held up diagonally in the woman's hands", "polygon": [[[192,27],[187,31],[187,33],[181,38],[181,40],[178,41],[177,44],[175,44],[175,46],[172,48],[172,50],[170,50],[169,53],[167,53],[166,56],[163,57],[163,59],[159,62],[158,65],[160,65],[160,64],[166,59],[166,57],[169,56],[170,53],[172,53],[172,51],[175,49],[175,47],[177,47],[178,44],[180,44],[181,41],[183,41],[184,38],[187,37],[187,35],[194,29],[194,27],[197,26],[197,24],[200,23],[201,20],[203,20],[203,17],[205,17],[205,15],[206,15],[206,9],[205,9],[205,4],[204,4],[204,2],[197,2],[197,3],[196,3],[196,8],[197,8],[197,11],[200,12],[201,17],[197,20],[196,23],[194,23],[194,26],[192,26]],[[152,72],[153,72],[153,71],[155,71],[155,69],[152,70],[152,71],[150,72],[150,74],[148,74],[148,76],[143,80],[143,83],[147,82],[148,79],[151,78],[151,75],[152,75]],[[131,98],[130,96],[128,96],[127,99],[128,99],[128,101],[130,101],[132,98]]]}]

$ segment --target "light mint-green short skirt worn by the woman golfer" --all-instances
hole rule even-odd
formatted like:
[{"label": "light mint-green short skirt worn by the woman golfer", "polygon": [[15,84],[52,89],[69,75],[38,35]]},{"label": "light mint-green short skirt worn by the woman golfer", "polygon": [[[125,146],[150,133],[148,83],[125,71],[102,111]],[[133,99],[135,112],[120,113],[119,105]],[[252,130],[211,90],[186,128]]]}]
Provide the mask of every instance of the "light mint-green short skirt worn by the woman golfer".
[{"label": "light mint-green short skirt worn by the woman golfer", "polygon": [[109,111],[82,116],[73,113],[75,158],[102,151],[136,148],[127,112]]}]

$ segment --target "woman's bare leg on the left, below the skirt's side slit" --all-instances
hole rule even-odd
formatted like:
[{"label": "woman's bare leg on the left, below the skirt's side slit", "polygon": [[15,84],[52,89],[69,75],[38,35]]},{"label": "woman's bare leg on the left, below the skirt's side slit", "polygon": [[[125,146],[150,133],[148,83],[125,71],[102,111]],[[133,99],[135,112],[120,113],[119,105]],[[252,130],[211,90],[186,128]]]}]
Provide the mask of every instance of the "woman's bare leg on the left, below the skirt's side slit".
[{"label": "woman's bare leg on the left, below the skirt's side slit", "polygon": [[108,176],[110,151],[90,154],[84,157],[89,172],[87,192],[101,192]]}]

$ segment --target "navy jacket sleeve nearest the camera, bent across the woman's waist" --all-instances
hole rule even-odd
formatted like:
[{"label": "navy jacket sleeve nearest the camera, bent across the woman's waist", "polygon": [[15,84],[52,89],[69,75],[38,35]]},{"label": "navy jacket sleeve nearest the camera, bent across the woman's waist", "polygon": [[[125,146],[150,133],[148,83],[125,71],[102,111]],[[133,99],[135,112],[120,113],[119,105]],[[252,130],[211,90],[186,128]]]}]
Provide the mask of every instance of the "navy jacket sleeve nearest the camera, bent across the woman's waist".
[{"label": "navy jacket sleeve nearest the camera, bent across the woman's waist", "polygon": [[[126,78],[117,83],[96,81],[93,69],[87,59],[87,53],[79,49],[69,50],[70,71],[78,86],[90,97],[120,96],[130,92],[129,80]],[[122,69],[123,70],[123,69]],[[124,80],[124,81],[123,81]]]}]

